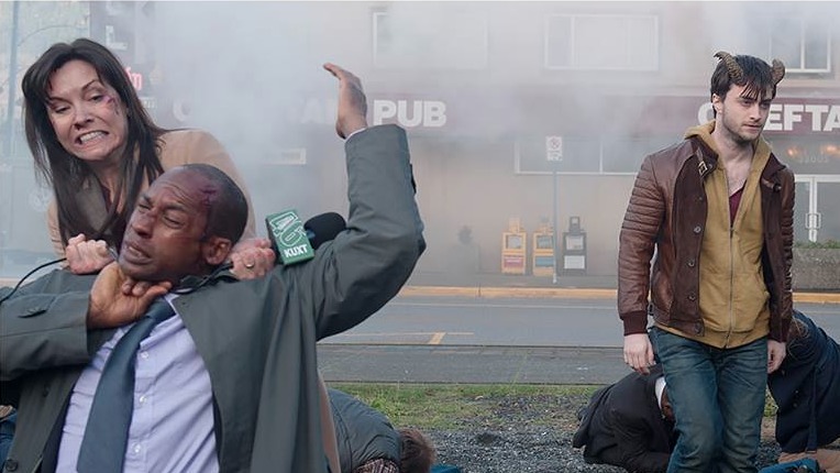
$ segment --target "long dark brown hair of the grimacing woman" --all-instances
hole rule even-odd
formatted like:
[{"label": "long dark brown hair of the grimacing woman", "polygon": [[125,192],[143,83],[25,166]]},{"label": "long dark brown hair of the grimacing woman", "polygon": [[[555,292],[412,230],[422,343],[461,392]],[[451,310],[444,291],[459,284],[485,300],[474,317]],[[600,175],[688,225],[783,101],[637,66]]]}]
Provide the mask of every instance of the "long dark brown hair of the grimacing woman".
[{"label": "long dark brown hair of the grimacing woman", "polygon": [[[126,109],[128,136],[120,161],[120,178],[111,196],[108,216],[95,228],[85,209],[76,200],[76,190],[87,179],[96,179],[89,165],[67,152],[56,138],[47,114],[49,78],[70,61],[90,64],[99,79],[111,86]],[[120,59],[107,47],[87,38],[52,45],[26,70],[22,81],[23,122],[37,176],[48,183],[58,207],[58,229],[62,240],[78,233],[88,239],[101,239],[120,248],[131,211],[134,209],[144,180],[152,183],[163,174],[158,157],[159,138],[167,131],[157,127],[137,97]],[[134,158],[136,154],[137,158]]]}]

